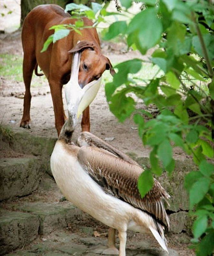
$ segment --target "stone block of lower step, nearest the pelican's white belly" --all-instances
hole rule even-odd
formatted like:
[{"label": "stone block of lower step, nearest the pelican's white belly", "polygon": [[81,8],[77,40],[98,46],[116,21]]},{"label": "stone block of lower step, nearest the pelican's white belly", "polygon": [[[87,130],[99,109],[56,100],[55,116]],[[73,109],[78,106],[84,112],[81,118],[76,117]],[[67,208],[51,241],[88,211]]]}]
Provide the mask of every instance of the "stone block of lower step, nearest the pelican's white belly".
[{"label": "stone block of lower step, nearest the pelican's white belly", "polygon": [[80,209],[77,209],[69,202],[32,202],[16,206],[16,209],[30,212],[38,216],[40,221],[39,234],[50,234],[57,228],[65,228],[71,225],[77,216],[82,215]]}]

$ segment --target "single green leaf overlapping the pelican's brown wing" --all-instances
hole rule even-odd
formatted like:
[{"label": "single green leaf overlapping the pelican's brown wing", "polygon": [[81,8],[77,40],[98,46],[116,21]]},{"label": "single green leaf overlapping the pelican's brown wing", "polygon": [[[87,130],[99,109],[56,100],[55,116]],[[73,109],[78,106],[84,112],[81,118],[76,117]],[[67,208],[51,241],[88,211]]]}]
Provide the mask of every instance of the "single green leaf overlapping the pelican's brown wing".
[{"label": "single green leaf overlapping the pelican's brown wing", "polygon": [[140,192],[141,198],[143,198],[152,189],[153,183],[154,180],[150,170],[145,170],[141,173],[137,183],[137,188]]}]

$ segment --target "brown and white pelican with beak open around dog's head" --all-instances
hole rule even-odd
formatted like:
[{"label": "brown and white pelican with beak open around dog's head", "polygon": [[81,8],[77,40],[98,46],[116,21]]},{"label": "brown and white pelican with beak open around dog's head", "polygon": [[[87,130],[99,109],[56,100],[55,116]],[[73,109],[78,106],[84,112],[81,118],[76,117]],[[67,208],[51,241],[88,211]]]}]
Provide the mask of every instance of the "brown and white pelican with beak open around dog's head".
[{"label": "brown and white pelican with beak open around dog's head", "polygon": [[[77,67],[79,57],[79,53],[73,56]],[[168,252],[164,229],[169,230],[170,222],[163,200],[167,201],[169,194],[154,179],[153,188],[141,198],[137,188],[138,178],[143,172],[141,166],[90,132],[81,132],[78,145],[74,145],[71,136],[76,125],[75,115],[80,115],[90,104],[99,85],[93,81],[83,88],[84,91],[78,88],[78,82],[72,84],[76,87],[74,90],[68,87],[71,84],[65,88],[68,120],[50,158],[51,171],[61,192],[75,206],[112,228],[109,248],[103,253],[118,254],[114,243],[115,229],[120,240],[119,256],[126,255],[127,230],[153,234]],[[73,91],[75,97],[71,95]]]}]

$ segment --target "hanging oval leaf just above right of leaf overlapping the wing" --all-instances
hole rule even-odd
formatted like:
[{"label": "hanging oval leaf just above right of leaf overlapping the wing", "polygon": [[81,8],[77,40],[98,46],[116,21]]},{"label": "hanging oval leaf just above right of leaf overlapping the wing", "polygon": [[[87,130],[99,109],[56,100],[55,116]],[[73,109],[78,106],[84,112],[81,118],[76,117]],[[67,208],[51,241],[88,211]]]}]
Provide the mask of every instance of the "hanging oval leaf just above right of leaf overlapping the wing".
[{"label": "hanging oval leaf just above right of leaf overlapping the wing", "polygon": [[169,140],[164,140],[157,149],[158,158],[163,162],[164,168],[172,161],[172,146]]}]

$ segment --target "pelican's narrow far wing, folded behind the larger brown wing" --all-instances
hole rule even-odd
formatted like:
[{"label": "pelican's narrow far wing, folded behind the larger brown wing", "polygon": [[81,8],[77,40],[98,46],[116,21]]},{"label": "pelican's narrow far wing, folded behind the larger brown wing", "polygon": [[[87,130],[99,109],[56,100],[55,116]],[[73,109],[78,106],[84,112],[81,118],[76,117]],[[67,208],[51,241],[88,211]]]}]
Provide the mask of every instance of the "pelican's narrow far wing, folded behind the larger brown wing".
[{"label": "pelican's narrow far wing, folded behind the larger brown wing", "polygon": [[102,139],[100,139],[99,137],[95,136],[90,132],[80,133],[80,136],[78,137],[78,145],[80,147],[87,145],[87,146],[95,146],[99,149],[105,149],[111,154],[115,155],[116,157],[121,158],[130,164],[135,164],[139,166],[137,162],[135,162],[132,158],[127,156],[125,153],[121,152],[120,150],[116,149],[112,145],[108,144],[106,141],[103,141]]}]

